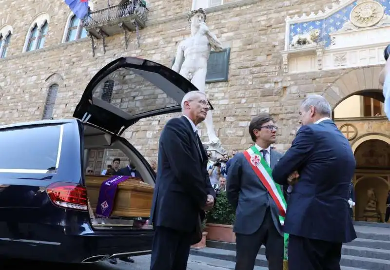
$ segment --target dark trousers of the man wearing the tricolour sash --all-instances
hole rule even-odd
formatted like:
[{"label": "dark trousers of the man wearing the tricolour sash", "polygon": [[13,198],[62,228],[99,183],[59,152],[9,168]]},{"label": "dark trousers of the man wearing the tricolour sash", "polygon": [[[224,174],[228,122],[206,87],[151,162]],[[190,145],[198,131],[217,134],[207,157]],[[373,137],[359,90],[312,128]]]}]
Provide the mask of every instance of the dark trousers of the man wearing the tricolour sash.
[{"label": "dark trousers of the man wearing the tricolour sash", "polygon": [[[248,220],[247,222],[251,222]],[[263,223],[253,234],[236,233],[236,263],[235,270],[253,270],[257,253],[264,244],[269,270],[283,269],[283,236],[273,224],[272,215],[268,208]]]}]

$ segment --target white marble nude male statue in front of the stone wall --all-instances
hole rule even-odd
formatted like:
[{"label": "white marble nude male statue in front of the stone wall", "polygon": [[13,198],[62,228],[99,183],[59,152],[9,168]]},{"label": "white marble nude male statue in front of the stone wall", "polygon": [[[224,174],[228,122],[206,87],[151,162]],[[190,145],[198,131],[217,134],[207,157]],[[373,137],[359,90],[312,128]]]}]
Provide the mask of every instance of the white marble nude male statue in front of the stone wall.
[{"label": "white marble nude male statue in front of the stone wall", "polygon": [[[191,23],[191,37],[179,43],[172,69],[190,80],[199,91],[205,93],[207,60],[210,51],[212,48],[217,52],[221,51],[222,44],[207,27],[206,13],[202,8],[191,11],[187,19]],[[204,123],[209,143],[219,143],[214,131],[211,111],[207,113]]]}]

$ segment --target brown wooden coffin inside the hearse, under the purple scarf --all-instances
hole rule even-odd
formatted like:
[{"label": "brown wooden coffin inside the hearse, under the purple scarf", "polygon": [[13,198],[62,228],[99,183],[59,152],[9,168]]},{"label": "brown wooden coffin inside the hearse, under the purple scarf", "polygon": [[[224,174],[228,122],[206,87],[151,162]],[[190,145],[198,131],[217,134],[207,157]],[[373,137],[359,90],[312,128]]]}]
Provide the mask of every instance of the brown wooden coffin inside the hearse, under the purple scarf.
[{"label": "brown wooden coffin inside the hearse, under the purple scarf", "polygon": [[[112,176],[85,176],[88,198],[94,213],[96,213],[101,184],[110,177]],[[153,190],[152,186],[138,178],[131,177],[119,183],[111,216],[148,218],[152,208]]]}]

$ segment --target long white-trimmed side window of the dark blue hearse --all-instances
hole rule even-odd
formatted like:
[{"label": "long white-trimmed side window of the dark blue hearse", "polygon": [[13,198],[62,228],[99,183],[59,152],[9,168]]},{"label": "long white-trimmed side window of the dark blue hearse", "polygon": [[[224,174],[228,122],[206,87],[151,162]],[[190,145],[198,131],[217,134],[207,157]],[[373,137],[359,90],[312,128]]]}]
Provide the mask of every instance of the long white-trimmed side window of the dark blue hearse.
[{"label": "long white-trimmed side window of the dark blue hearse", "polygon": [[[63,125],[37,126],[0,131],[0,172],[55,170]],[[40,173],[37,171],[37,173]]]}]

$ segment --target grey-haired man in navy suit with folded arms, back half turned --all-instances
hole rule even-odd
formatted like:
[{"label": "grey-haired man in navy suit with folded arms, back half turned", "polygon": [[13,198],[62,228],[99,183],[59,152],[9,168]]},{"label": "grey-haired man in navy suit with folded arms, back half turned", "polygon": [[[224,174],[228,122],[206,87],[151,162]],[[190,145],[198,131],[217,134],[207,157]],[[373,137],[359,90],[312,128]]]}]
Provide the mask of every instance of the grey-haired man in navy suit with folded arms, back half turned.
[{"label": "grey-haired man in navy suit with folded arms, back half turned", "polygon": [[355,158],[323,96],[308,96],[299,113],[303,126],[272,174],[293,185],[284,224],[289,270],[340,270],[342,243],[356,238],[348,212]]}]

